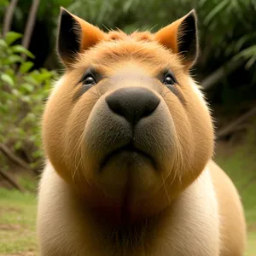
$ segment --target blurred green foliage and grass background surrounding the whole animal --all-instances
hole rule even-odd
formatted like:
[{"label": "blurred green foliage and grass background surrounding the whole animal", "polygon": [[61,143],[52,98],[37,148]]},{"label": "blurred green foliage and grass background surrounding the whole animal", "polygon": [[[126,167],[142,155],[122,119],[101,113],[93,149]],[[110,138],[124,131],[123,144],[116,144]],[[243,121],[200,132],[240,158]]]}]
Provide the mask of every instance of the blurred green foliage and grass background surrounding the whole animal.
[{"label": "blurred green foliage and grass background surrounding the whole animal", "polygon": [[40,117],[63,72],[55,53],[60,6],[125,32],[155,32],[196,10],[201,54],[191,74],[215,119],[214,160],[245,207],[247,255],[256,255],[255,0],[0,0],[0,255],[37,255]]}]

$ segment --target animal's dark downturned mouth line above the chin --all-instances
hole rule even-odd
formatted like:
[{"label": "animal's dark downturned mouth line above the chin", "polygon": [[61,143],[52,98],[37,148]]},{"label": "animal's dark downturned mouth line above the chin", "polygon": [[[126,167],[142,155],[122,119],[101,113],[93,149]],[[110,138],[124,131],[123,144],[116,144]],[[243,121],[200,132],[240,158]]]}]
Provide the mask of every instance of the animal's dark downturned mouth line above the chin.
[{"label": "animal's dark downturned mouth line above the chin", "polygon": [[118,154],[126,154],[127,156],[127,161],[132,165],[133,164],[133,160],[137,157],[137,156],[143,156],[145,158],[147,158],[148,160],[150,160],[152,162],[152,165],[156,166],[154,158],[146,153],[145,151],[135,147],[132,143],[128,143],[123,147],[114,149],[112,152],[108,153],[104,159],[101,162],[100,165],[100,170],[102,170],[102,168],[104,168],[104,166],[106,166],[108,164],[108,161],[111,160],[114,156],[118,155]]}]

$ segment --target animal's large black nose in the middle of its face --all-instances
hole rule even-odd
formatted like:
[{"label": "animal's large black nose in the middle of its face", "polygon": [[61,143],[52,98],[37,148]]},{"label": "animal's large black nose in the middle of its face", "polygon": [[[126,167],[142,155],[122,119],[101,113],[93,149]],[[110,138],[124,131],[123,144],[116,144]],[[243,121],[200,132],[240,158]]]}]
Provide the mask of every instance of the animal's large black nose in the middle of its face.
[{"label": "animal's large black nose in the middle of its face", "polygon": [[160,99],[142,87],[121,88],[106,97],[108,107],[122,115],[131,125],[154,112]]}]

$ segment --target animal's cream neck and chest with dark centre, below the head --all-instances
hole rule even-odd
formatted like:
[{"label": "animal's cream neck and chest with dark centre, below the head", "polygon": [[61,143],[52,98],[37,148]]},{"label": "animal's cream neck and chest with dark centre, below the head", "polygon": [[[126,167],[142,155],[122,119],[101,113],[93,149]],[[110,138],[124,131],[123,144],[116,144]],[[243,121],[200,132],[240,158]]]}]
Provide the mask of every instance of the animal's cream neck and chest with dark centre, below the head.
[{"label": "animal's cream neck and chest with dark centre, below the head", "polygon": [[[104,212],[95,214],[50,166],[44,171],[40,187],[38,223],[42,225],[38,225],[38,230],[42,244],[48,244],[52,252],[49,255],[208,256],[212,254],[204,248],[215,248],[218,212],[214,201],[208,203],[214,192],[207,172],[166,210],[133,224],[114,225]],[[201,247],[198,241],[205,241],[205,246]],[[190,247],[192,243],[198,247]]]}]

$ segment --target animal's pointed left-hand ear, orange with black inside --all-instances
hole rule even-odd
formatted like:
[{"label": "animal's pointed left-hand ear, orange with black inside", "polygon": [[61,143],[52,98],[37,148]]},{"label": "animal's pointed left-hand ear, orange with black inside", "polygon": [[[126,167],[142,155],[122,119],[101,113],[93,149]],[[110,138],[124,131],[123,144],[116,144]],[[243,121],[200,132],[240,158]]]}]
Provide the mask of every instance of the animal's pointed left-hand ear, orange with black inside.
[{"label": "animal's pointed left-hand ear, orange with black inside", "polygon": [[98,27],[61,8],[57,51],[66,67],[72,65],[79,52],[89,49],[104,38],[105,33]]}]

